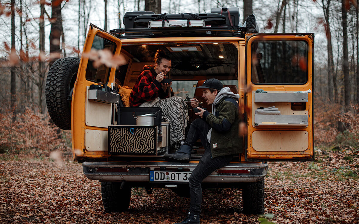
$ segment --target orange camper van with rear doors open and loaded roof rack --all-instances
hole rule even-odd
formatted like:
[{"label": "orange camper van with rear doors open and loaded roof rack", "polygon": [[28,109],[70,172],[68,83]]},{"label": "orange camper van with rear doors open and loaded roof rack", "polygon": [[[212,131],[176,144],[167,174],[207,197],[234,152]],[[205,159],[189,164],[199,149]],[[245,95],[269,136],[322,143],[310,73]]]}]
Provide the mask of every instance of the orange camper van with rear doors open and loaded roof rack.
[{"label": "orange camper van with rear doors open and loaded roof rack", "polygon": [[[61,58],[50,68],[49,114],[72,131],[74,160],[87,178],[101,181],[106,211],[127,209],[132,187],[148,194],[168,187],[189,196],[188,177],[204,152],[199,142],[190,163],[165,161],[173,150],[168,122],[158,116],[153,125],[136,125],[133,113],[160,114],[128,105],[129,91],[158,49],[171,57],[173,95],[186,104],[194,97],[206,108],[194,87],[213,77],[240,95],[248,128],[244,153],[205,178],[203,187],[243,189],[243,212],[262,214],[267,162],[312,161],[314,34],[258,33],[253,15],[242,24],[238,8],[219,11],[131,12],[125,28],[110,32],[91,24],[82,57]],[[188,116],[189,127],[197,115],[190,108]],[[134,134],[140,130],[145,134]]]}]

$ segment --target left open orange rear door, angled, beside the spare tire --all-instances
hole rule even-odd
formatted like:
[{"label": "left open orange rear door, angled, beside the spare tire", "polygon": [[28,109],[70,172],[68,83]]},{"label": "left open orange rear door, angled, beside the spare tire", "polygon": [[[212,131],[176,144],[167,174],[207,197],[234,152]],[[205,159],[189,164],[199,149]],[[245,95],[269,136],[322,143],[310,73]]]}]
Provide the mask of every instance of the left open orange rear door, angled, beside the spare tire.
[{"label": "left open orange rear door, angled, beside the spare tire", "polygon": [[[89,90],[92,84],[115,85],[116,59],[121,41],[90,25],[84,44],[71,104],[71,131],[75,160],[108,157],[108,126],[114,123],[118,94]],[[104,88],[105,89],[105,88]]]}]

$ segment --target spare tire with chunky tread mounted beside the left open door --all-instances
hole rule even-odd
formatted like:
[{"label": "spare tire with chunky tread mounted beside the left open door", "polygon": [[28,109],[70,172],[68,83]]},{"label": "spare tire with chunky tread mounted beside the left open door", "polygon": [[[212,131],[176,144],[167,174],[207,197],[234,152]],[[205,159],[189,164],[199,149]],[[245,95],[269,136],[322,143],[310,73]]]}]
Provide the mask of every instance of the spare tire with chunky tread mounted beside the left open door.
[{"label": "spare tire with chunky tread mounted beside the left open door", "polygon": [[45,96],[53,123],[71,130],[71,99],[80,58],[60,58],[52,64],[46,78]]}]

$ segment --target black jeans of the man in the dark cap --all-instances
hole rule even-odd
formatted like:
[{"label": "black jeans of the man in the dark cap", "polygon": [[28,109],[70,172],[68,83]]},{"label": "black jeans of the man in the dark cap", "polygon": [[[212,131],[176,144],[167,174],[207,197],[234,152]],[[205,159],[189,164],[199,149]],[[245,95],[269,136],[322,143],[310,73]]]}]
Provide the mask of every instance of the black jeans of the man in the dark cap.
[{"label": "black jeans of the man in the dark cap", "polygon": [[219,156],[212,158],[211,147],[207,140],[207,134],[210,126],[202,119],[196,119],[192,122],[185,144],[193,146],[198,138],[201,139],[203,147],[206,149],[198,165],[193,170],[190,178],[191,203],[190,213],[200,214],[202,202],[202,181],[216,169],[227,166],[233,156]]}]

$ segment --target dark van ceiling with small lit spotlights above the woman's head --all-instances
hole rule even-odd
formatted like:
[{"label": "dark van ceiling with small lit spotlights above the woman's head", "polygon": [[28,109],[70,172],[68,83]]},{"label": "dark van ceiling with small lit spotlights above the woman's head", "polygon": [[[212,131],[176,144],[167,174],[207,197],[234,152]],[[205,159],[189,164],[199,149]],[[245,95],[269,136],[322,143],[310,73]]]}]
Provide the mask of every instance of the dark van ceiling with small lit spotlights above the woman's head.
[{"label": "dark van ceiling with small lit spotlights above the woman's head", "polygon": [[[200,51],[169,51],[167,47],[200,47]],[[218,77],[234,79],[238,73],[238,53],[233,44],[163,44],[147,46],[122,46],[139,62],[153,63],[153,57],[158,49],[162,49],[171,57],[171,77],[189,78],[193,76]],[[223,58],[220,58],[223,56]],[[190,79],[192,79],[190,78]]]}]

